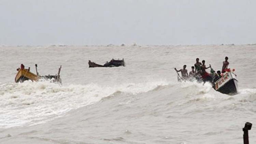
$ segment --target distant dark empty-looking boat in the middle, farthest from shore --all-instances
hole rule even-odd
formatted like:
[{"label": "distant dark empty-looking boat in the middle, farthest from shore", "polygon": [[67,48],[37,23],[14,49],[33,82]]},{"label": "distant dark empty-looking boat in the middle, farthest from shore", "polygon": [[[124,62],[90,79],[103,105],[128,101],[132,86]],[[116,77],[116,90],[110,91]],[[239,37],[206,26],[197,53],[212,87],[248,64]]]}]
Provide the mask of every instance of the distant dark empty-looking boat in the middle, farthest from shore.
[{"label": "distant dark empty-looking boat in the middle, farthest from shore", "polygon": [[119,66],[124,66],[125,67],[124,59],[122,59],[122,60],[112,59],[112,60],[110,60],[110,62],[107,61],[104,65],[97,64],[97,63],[91,62],[89,60],[88,64],[89,64],[89,68],[95,68],[95,67],[119,67]]}]

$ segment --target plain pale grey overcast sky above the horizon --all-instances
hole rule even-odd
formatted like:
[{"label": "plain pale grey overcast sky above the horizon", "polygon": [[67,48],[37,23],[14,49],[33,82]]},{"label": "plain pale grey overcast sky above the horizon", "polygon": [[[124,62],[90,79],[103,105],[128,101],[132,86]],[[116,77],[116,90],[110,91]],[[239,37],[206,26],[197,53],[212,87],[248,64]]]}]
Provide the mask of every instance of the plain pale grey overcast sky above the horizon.
[{"label": "plain pale grey overcast sky above the horizon", "polygon": [[254,44],[255,6],[255,0],[0,0],[0,44]]}]

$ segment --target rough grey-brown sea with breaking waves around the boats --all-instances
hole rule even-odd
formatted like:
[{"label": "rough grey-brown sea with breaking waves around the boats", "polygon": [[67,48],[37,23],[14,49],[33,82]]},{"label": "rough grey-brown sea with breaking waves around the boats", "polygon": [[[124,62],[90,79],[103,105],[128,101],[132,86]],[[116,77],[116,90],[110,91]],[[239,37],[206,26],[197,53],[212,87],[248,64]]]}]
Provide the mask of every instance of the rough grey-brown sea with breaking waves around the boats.
[{"label": "rough grey-brown sea with breaking waves around the boats", "polygon": [[[217,71],[228,56],[238,94],[177,82],[174,68]],[[124,59],[125,67],[89,68]],[[15,83],[20,64],[49,81]],[[0,46],[1,144],[256,143],[256,45]],[[210,72],[209,69],[207,69]]]}]

